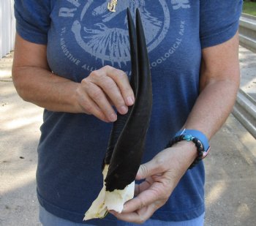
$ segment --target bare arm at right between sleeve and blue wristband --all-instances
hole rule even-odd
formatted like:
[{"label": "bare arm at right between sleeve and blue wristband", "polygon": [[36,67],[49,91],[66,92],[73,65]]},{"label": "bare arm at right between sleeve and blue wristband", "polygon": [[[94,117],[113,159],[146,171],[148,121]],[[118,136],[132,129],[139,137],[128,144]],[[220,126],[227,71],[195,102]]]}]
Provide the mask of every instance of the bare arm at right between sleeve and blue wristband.
[{"label": "bare arm at right between sleeve and blue wristband", "polygon": [[229,116],[239,88],[238,33],[228,40],[202,50],[200,95],[184,125],[210,139]]}]

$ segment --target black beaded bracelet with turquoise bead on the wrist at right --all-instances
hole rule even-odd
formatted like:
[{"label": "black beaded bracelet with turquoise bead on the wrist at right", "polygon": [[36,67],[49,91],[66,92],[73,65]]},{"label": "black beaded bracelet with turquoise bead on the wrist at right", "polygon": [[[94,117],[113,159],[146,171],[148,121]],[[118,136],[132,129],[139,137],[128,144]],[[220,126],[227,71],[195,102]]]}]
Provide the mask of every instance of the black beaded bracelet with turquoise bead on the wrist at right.
[{"label": "black beaded bracelet with turquoise bead on the wrist at right", "polygon": [[178,143],[181,140],[192,141],[193,143],[195,143],[195,146],[197,148],[197,157],[196,157],[195,161],[192,163],[192,165],[189,166],[189,169],[191,169],[192,167],[197,165],[197,163],[200,162],[200,160],[203,159],[203,152],[204,152],[203,146],[200,143],[200,140],[192,137],[192,135],[179,135],[179,136],[173,138],[173,140],[171,140],[170,143],[168,143],[167,148],[170,148],[171,146],[173,146],[173,144]]}]

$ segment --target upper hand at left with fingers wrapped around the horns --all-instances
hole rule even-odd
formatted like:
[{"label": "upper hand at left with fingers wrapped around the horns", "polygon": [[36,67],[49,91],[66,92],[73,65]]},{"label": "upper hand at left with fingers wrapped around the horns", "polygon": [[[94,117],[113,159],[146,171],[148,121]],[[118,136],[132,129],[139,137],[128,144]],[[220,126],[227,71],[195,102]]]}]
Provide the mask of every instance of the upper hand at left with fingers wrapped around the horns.
[{"label": "upper hand at left with fingers wrapped around the horns", "polygon": [[118,113],[125,114],[135,97],[125,72],[105,66],[91,72],[76,89],[78,111],[92,114],[102,121],[116,121]]}]

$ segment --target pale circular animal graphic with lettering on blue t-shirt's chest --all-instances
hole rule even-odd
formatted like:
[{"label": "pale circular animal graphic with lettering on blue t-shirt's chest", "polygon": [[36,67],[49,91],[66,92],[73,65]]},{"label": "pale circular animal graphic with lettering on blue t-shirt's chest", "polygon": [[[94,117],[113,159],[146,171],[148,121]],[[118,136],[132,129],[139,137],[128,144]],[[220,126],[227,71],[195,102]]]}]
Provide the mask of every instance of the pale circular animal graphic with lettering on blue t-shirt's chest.
[{"label": "pale circular animal graphic with lettering on blue t-shirt's chest", "polygon": [[[148,53],[157,48],[170,29],[170,10],[167,4],[172,5],[172,10],[189,9],[190,7],[189,0],[125,0],[118,1],[116,12],[110,12],[108,10],[109,0],[100,1],[102,4],[99,4],[99,1],[95,3],[92,0],[86,1],[84,4],[81,1],[67,1],[69,1],[70,7],[61,7],[59,17],[72,18],[73,21],[71,28],[64,27],[61,29],[62,50],[68,51],[64,34],[67,30],[71,30],[75,42],[83,51],[89,53],[94,59],[101,61],[102,66],[110,64],[113,67],[126,65],[130,60],[127,28],[128,7],[134,18],[136,8],[140,9]],[[154,2],[154,7],[152,7],[152,2]],[[158,10],[159,13],[155,13],[155,10]],[[181,37],[184,34],[185,21],[181,20],[180,23],[180,30],[173,32],[177,34],[173,46],[163,56],[159,56],[159,59],[152,61],[151,67],[161,64],[178,49],[182,41]],[[72,56],[72,53],[69,53],[69,56],[75,64],[83,64],[81,59]],[[97,69],[88,64],[83,64],[82,67],[91,71]]]}]

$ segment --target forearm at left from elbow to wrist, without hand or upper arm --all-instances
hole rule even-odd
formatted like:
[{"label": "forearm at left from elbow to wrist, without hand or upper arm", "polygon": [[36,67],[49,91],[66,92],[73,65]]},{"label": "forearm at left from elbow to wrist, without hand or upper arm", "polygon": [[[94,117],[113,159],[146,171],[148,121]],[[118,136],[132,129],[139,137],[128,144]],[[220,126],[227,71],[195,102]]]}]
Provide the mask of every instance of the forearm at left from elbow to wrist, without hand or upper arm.
[{"label": "forearm at left from elbow to wrist, without hand or upper arm", "polygon": [[79,113],[75,90],[78,83],[40,67],[14,67],[15,88],[20,97],[48,110]]}]

